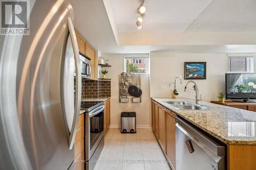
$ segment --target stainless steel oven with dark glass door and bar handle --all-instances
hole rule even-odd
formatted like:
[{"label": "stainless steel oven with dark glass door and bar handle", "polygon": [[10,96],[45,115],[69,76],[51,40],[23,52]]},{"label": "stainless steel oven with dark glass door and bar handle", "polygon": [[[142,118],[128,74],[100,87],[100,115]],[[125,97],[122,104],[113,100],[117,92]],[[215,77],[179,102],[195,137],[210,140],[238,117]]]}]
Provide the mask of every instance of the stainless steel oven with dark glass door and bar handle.
[{"label": "stainless steel oven with dark glass door and bar handle", "polygon": [[86,169],[93,169],[104,146],[104,104],[86,112]]}]

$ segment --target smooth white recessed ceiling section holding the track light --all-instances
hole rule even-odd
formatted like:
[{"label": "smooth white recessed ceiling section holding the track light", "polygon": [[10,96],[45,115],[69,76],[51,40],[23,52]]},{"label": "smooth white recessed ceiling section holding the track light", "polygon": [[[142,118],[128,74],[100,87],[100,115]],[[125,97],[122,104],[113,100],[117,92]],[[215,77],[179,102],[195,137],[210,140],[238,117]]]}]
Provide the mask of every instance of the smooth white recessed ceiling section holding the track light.
[{"label": "smooth white recessed ceiling section holding the track light", "polygon": [[117,30],[123,32],[183,32],[212,0],[145,0],[146,16],[137,30],[138,0],[111,0]]}]

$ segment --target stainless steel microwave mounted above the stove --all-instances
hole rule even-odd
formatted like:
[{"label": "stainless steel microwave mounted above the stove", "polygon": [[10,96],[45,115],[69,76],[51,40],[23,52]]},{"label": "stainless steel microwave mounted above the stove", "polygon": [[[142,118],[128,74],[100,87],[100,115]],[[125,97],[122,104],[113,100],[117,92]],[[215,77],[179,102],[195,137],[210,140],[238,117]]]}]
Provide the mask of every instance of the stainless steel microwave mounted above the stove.
[{"label": "stainless steel microwave mounted above the stove", "polygon": [[79,52],[80,65],[81,65],[81,77],[90,79],[91,77],[91,59]]}]

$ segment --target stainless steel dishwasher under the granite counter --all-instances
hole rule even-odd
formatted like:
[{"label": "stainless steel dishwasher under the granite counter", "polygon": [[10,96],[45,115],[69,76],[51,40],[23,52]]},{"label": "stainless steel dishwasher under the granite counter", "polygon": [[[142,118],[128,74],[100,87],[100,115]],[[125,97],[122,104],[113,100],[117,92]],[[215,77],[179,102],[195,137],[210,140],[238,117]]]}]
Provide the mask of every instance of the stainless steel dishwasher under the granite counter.
[{"label": "stainless steel dishwasher under the granite counter", "polygon": [[176,170],[224,170],[225,145],[176,118]]}]

